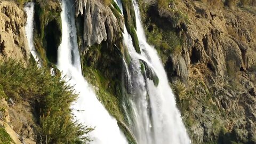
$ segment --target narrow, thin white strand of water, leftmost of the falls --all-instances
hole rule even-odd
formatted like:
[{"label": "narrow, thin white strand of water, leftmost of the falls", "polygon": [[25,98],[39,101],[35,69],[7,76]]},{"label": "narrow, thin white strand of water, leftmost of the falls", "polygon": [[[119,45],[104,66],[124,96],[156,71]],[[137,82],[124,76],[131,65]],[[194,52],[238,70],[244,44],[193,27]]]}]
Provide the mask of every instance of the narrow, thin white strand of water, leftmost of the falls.
[{"label": "narrow, thin white strand of water, leftmost of the falls", "polygon": [[27,3],[25,6],[25,11],[27,13],[27,22],[26,22],[26,26],[25,26],[25,30],[26,30],[26,36],[28,39],[28,46],[29,46],[29,50],[30,53],[33,55],[35,61],[37,62],[37,66],[40,68],[42,67],[42,64],[39,60],[38,54],[36,52],[35,49],[35,45],[34,45],[34,37],[33,37],[33,31],[34,31],[34,3]]}]

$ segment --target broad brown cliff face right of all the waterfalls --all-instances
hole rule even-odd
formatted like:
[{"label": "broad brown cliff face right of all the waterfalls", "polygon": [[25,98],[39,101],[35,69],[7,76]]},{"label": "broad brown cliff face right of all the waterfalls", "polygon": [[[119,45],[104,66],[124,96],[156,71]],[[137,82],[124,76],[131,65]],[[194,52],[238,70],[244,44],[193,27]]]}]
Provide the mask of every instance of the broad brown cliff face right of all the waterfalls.
[{"label": "broad brown cliff face right of all the waterfalls", "polygon": [[175,1],[143,11],[149,37],[159,30],[181,39],[179,54],[160,54],[193,143],[256,141],[254,9]]}]

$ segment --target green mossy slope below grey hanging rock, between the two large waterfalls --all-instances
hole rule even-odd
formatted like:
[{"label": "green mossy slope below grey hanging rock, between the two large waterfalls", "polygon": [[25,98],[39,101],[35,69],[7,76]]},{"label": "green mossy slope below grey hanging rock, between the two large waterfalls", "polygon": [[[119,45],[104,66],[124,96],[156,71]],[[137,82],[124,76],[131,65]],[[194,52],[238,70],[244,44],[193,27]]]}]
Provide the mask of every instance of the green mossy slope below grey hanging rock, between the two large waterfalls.
[{"label": "green mossy slope below grey hanging rock, between the two large waterfalls", "polygon": [[[121,41],[122,42],[122,41]],[[116,42],[116,46],[107,42],[95,44],[81,56],[83,74],[87,81],[95,86],[95,92],[99,100],[114,116],[120,129],[126,135],[129,142],[134,141],[130,130],[127,128],[125,111],[122,103],[125,96],[122,95],[122,71],[124,47]],[[128,57],[126,59],[129,59]],[[129,61],[129,60],[128,60]],[[128,63],[128,62],[127,62]]]}]

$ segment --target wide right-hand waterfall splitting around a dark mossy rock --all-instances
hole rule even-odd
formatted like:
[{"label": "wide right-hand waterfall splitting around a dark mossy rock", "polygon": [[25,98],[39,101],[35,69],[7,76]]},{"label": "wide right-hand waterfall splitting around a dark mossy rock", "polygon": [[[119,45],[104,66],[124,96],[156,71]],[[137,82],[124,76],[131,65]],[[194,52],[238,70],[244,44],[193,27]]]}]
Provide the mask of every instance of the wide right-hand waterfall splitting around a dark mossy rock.
[{"label": "wide right-hand waterfall splitting around a dark mossy rock", "polygon": [[[117,3],[119,7],[122,5]],[[146,36],[140,20],[140,11],[137,2],[133,0],[137,23],[137,36],[141,54],[138,54],[133,45],[131,36],[124,28],[124,43],[131,56],[129,73],[131,75],[132,96],[131,108],[133,124],[130,125],[139,144],[187,144],[191,143],[186,128],[182,123],[181,115],[176,107],[174,94],[169,85],[163,64],[153,46],[146,41]],[[143,60],[148,67],[154,70],[159,79],[157,86],[153,81],[141,74]],[[126,107],[124,107],[126,109]]]}]

